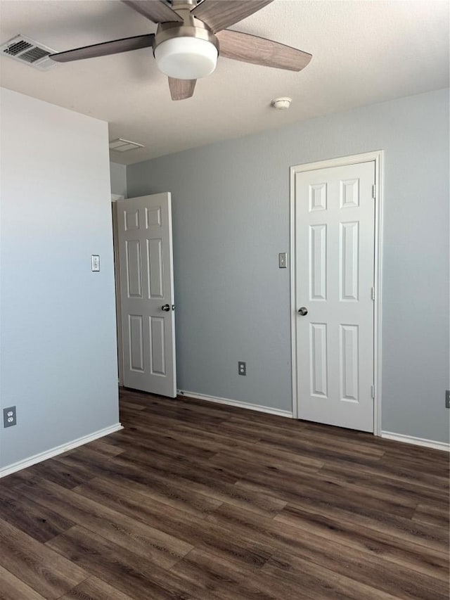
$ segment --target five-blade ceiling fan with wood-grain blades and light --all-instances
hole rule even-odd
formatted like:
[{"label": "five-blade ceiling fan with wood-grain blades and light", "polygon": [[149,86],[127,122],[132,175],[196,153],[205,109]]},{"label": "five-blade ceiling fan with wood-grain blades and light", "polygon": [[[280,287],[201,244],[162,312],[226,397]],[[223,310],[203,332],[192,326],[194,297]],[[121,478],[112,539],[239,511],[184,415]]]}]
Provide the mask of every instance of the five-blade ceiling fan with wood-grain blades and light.
[{"label": "five-blade ceiling fan with wood-grain blades and light", "polygon": [[137,35],[51,54],[58,63],[94,58],[153,46],[160,71],[169,76],[172,100],[193,95],[195,82],[210,75],[217,58],[300,71],[311,54],[271,39],[226,29],[273,0],[122,0],[158,23],[155,34]]}]

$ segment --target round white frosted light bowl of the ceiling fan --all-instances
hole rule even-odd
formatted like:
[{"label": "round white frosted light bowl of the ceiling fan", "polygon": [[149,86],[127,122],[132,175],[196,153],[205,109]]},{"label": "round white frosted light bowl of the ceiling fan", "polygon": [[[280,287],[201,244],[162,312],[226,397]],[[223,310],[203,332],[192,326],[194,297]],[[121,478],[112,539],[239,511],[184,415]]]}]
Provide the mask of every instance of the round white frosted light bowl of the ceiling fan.
[{"label": "round white frosted light bowl of the ceiling fan", "polygon": [[217,65],[217,48],[198,37],[173,37],[155,48],[158,69],[174,79],[200,79]]}]

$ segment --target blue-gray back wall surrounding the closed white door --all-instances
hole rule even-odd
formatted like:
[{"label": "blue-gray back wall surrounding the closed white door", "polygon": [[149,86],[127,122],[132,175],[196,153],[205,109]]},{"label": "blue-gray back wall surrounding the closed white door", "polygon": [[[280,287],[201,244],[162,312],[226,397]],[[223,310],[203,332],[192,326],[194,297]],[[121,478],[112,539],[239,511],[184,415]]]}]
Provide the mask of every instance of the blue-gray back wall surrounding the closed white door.
[{"label": "blue-gray back wall surrounding the closed white door", "polygon": [[172,192],[179,388],[291,409],[289,167],[378,149],[383,430],[449,440],[448,90],[127,168],[129,197]]}]

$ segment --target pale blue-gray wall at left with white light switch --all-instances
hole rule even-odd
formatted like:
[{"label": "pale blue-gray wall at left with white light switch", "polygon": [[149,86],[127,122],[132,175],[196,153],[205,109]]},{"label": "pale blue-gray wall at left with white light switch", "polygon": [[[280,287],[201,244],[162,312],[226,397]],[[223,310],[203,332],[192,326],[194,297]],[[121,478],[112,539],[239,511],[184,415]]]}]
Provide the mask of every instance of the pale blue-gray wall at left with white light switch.
[{"label": "pale blue-gray wall at left with white light switch", "polygon": [[119,414],[108,126],[1,89],[0,139],[4,467]]}]

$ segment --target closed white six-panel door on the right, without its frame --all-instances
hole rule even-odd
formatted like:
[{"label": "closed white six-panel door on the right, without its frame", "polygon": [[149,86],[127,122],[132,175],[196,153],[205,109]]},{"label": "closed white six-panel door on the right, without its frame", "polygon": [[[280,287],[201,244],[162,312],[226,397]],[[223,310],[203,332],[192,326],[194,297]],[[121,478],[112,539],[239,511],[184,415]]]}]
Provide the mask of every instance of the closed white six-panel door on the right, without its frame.
[{"label": "closed white six-panel door on the right, without its frame", "polygon": [[373,431],[375,162],[296,172],[299,419]]}]

